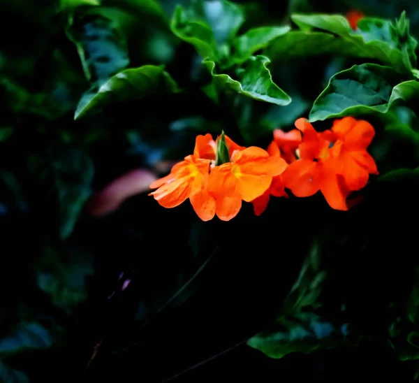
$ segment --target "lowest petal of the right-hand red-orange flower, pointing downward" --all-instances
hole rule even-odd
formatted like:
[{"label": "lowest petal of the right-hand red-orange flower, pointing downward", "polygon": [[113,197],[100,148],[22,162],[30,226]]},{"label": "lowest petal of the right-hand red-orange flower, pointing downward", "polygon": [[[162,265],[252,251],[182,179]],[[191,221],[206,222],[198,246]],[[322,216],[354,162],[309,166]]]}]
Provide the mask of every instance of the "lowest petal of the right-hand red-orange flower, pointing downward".
[{"label": "lowest petal of the right-hand red-orange flower, pointing downward", "polygon": [[320,190],[330,208],[335,210],[348,210],[346,198],[348,197],[349,191],[341,175],[337,175],[332,169],[325,169]]}]

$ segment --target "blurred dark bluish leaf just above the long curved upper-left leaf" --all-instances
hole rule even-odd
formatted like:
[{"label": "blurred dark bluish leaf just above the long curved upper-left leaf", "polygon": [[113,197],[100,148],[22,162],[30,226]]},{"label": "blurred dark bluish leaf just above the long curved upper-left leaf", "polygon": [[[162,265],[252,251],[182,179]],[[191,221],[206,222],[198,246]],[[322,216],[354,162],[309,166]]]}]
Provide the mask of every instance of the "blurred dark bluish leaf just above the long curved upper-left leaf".
[{"label": "blurred dark bluish leaf just above the long curved upper-left leaf", "polygon": [[90,82],[101,84],[128,66],[126,41],[116,18],[100,14],[75,16],[67,34],[77,47]]}]

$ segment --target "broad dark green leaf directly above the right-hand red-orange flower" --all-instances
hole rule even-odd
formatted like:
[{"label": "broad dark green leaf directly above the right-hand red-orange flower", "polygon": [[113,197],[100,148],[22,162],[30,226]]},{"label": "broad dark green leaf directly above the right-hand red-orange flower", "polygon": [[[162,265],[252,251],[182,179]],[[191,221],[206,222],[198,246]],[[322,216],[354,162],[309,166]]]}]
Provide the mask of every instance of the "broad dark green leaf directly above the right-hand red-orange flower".
[{"label": "broad dark green leaf directly above the right-hand red-orange flower", "polygon": [[329,85],[314,101],[311,122],[328,118],[388,113],[392,106],[419,97],[419,82],[399,83],[399,75],[388,66],[355,65],[330,78]]}]

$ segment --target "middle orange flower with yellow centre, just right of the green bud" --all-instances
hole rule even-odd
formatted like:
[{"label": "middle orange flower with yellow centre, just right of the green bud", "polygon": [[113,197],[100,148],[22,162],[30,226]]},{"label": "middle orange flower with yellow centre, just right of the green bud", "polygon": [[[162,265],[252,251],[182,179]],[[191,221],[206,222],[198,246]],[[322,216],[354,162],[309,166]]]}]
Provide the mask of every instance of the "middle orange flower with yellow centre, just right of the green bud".
[{"label": "middle orange flower with yellow centre, just right of the green bud", "polygon": [[216,215],[223,221],[234,218],[242,200],[251,202],[270,187],[272,178],[284,172],[286,161],[271,157],[260,147],[235,152],[232,162],[216,166],[210,173],[208,191],[216,200]]}]

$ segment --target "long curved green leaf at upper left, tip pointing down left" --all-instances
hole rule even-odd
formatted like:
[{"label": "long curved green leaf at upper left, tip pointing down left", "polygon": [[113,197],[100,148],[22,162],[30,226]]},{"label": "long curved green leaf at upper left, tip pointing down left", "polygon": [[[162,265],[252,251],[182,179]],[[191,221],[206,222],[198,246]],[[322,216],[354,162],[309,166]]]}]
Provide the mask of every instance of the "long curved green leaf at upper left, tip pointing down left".
[{"label": "long curved green leaf at upper left, tip pointing down left", "polygon": [[179,92],[177,85],[163,66],[145,65],[126,69],[112,76],[100,87],[92,87],[82,96],[74,118],[99,110],[110,103],[141,99],[150,94]]}]

